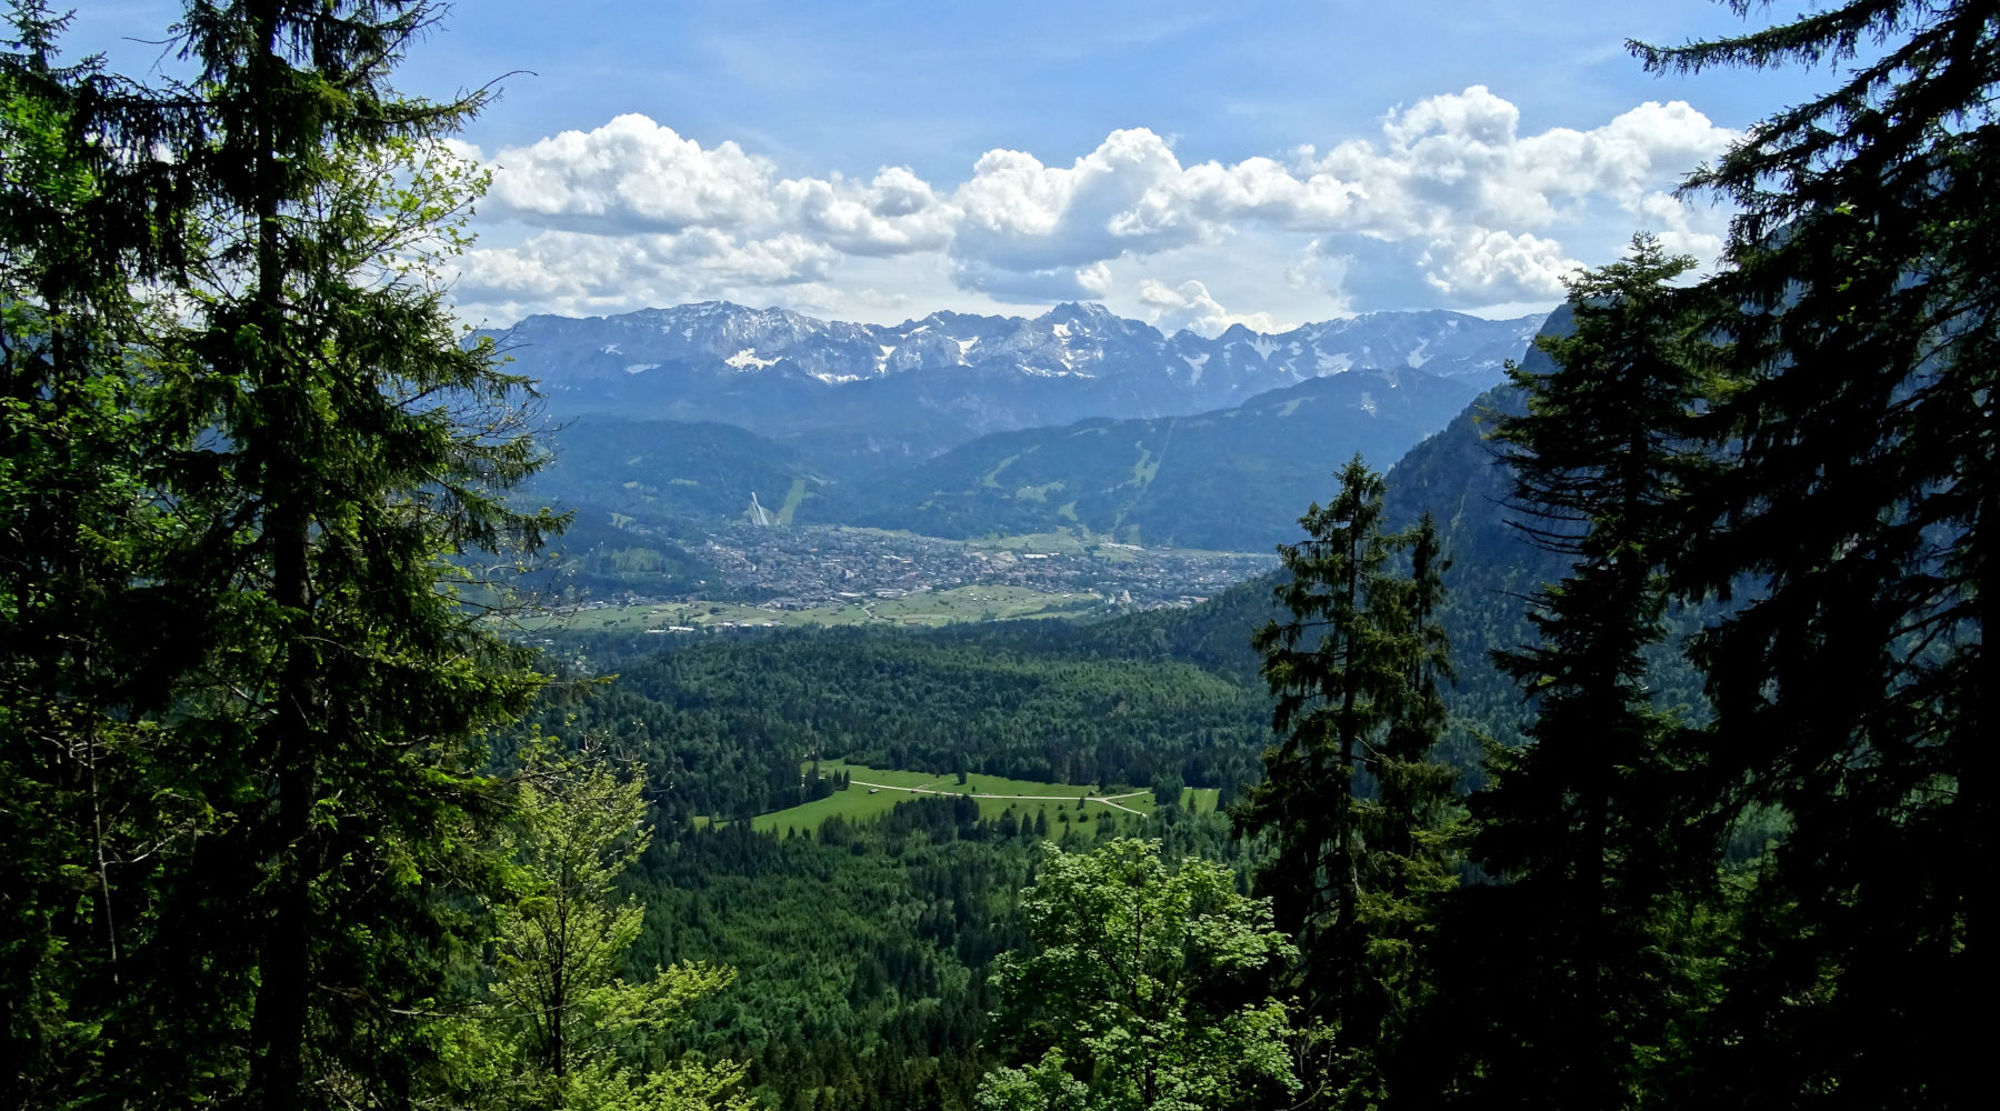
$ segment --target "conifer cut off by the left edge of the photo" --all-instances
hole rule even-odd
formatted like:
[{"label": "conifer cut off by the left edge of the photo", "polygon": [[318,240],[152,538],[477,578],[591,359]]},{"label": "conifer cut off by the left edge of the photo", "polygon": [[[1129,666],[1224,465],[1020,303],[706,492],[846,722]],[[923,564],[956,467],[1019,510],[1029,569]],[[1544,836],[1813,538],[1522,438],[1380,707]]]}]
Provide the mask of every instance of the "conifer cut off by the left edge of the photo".
[{"label": "conifer cut off by the left edge of the photo", "polygon": [[130,1001],[152,903],[144,861],[198,821],[156,777],[150,715],[200,623],[174,579],[180,522],[156,470],[158,328],[136,274],[184,214],[132,220],[94,160],[68,20],[10,4],[0,52],[0,1105],[86,1089],[98,1025]]}]

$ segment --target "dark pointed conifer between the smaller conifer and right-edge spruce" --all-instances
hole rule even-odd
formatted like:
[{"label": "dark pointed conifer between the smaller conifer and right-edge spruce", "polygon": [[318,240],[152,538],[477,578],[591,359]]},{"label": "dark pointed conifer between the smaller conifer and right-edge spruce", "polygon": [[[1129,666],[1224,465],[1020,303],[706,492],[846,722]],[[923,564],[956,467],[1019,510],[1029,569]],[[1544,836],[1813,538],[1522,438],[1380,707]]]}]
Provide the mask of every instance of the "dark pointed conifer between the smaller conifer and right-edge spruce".
[{"label": "dark pointed conifer between the smaller conifer and right-edge spruce", "polygon": [[1554,370],[1510,368],[1526,412],[1492,432],[1516,526],[1572,569],[1534,599],[1538,643],[1496,653],[1534,719],[1528,743],[1488,753],[1492,787],[1470,799],[1474,855],[1514,885],[1504,905],[1534,919],[1540,949],[1502,989],[1514,995],[1506,1029],[1464,1047],[1478,1059],[1466,1083],[1488,1101],[1638,1097],[1676,993],[1660,959],[1664,905],[1710,861],[1678,841],[1684,759],[1646,687],[1666,607],[1664,514],[1702,468],[1688,450],[1700,344],[1672,288],[1692,266],[1636,236],[1624,260],[1572,278],[1574,330],[1536,340]]}]

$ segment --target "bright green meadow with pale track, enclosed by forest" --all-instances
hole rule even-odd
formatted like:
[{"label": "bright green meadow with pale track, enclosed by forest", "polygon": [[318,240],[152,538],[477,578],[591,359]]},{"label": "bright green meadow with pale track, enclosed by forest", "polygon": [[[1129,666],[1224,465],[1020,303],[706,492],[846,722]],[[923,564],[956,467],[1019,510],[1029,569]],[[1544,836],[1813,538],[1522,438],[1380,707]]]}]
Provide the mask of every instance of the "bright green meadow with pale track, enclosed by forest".
[{"label": "bright green meadow with pale track, enclosed by forest", "polygon": [[[820,763],[820,771],[824,775],[846,771],[854,785],[806,805],[760,813],[750,819],[752,827],[758,831],[818,829],[834,815],[848,821],[868,821],[882,817],[896,803],[924,795],[972,795],[980,803],[982,819],[998,819],[1012,809],[1016,819],[1034,821],[1036,813],[1046,811],[1050,829],[1062,825],[1064,819],[1098,821],[1102,815],[1136,821],[1154,809],[1152,791],[1138,787],[1114,787],[1098,793],[1098,787],[1002,779],[998,775],[966,775],[966,781],[960,783],[956,775],[892,771],[860,763]],[[870,785],[874,785],[874,793],[870,793]],[[1182,805],[1216,809],[1216,791],[1188,787],[1182,793]]]}]

